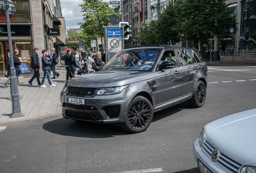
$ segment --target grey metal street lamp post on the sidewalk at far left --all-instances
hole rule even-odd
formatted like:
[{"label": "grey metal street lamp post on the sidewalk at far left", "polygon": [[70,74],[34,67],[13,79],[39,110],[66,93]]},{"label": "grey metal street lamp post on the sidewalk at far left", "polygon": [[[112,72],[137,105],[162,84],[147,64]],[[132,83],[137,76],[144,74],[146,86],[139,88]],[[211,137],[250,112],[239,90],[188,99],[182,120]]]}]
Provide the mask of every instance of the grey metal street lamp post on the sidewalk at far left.
[{"label": "grey metal street lamp post on the sidewalk at far left", "polygon": [[9,43],[9,52],[10,52],[10,62],[11,62],[11,77],[10,77],[10,94],[12,97],[12,113],[9,115],[11,118],[23,117],[21,113],[21,104],[19,99],[19,88],[18,81],[16,77],[16,72],[14,68],[13,61],[13,52],[12,52],[12,36],[10,30],[10,18],[16,12],[16,8],[11,0],[0,0],[0,12],[5,13],[6,16],[6,28],[8,32],[8,43]]}]

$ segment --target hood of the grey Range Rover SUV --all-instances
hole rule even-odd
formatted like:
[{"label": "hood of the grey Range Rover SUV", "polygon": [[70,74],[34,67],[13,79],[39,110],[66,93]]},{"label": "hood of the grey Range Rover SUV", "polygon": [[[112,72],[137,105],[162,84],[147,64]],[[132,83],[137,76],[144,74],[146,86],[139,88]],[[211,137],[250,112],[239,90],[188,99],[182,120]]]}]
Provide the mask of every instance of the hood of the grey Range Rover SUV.
[{"label": "hood of the grey Range Rover SUV", "polygon": [[153,72],[139,72],[139,71],[99,71],[75,78],[71,78],[66,82],[70,87],[118,87],[142,80],[149,80],[155,78]]}]

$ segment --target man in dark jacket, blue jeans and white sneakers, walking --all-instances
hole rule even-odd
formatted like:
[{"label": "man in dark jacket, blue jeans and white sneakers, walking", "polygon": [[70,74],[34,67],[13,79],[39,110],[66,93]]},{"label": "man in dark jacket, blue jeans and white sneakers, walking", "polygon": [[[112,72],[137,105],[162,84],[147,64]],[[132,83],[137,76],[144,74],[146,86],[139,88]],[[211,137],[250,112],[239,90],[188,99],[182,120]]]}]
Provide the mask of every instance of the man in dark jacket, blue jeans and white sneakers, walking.
[{"label": "man in dark jacket, blue jeans and white sneakers, walking", "polygon": [[50,84],[50,87],[56,87],[55,84],[52,83],[51,81],[51,77],[50,77],[50,58],[46,57],[46,54],[47,54],[47,50],[42,50],[42,70],[43,70],[43,78],[42,78],[42,81],[41,81],[41,88],[46,88],[47,86],[45,86],[43,83],[45,81],[45,79],[47,78],[48,79],[48,82]]}]

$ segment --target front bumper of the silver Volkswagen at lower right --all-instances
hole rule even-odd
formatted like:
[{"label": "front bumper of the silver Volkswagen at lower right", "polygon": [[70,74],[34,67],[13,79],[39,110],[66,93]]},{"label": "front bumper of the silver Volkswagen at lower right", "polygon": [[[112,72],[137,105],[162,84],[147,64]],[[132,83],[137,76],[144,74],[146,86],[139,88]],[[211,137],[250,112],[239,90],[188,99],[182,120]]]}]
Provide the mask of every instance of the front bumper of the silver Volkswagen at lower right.
[{"label": "front bumper of the silver Volkswagen at lower right", "polygon": [[[212,161],[211,156],[207,155],[200,147],[198,139],[194,142],[193,145],[194,159],[198,163],[198,159],[213,173],[234,173],[234,171],[228,171],[224,167],[218,164],[217,161]],[[241,167],[239,168],[239,170]],[[239,172],[239,171],[238,171]]]}]

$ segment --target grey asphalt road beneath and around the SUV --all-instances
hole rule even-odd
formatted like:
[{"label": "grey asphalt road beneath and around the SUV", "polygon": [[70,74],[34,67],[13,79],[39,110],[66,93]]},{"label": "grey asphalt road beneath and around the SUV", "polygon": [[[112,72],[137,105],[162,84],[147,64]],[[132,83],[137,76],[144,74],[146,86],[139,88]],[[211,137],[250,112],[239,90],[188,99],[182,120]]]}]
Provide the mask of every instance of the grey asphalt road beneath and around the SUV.
[{"label": "grey asphalt road beneath and around the SUV", "polygon": [[142,133],[61,117],[7,125],[0,173],[199,173],[192,145],[202,127],[256,108],[256,66],[208,68],[203,107],[182,103],[157,112]]}]

